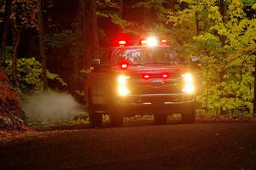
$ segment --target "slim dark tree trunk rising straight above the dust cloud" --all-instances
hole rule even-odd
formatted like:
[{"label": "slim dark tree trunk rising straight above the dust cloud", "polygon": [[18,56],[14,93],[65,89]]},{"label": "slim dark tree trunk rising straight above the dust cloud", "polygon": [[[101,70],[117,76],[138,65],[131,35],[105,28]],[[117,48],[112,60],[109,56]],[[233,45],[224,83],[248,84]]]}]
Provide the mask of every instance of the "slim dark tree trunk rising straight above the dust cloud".
[{"label": "slim dark tree trunk rising straight above the dust cloud", "polygon": [[41,55],[44,91],[45,91],[48,89],[48,81],[47,81],[46,54],[45,54],[45,45],[44,45],[44,26],[43,26],[43,13],[42,13],[41,0],[38,0],[38,8],[39,8],[39,11],[38,11],[38,37],[39,37],[39,48],[40,48],[40,55]]}]

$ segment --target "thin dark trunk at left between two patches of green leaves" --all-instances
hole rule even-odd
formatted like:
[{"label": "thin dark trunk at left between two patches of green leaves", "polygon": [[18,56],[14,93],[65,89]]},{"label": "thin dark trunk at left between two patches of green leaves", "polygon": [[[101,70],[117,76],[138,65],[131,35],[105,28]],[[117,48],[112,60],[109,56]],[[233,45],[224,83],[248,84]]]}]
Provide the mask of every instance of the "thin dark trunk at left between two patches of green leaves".
[{"label": "thin dark trunk at left between two patches of green leaves", "polygon": [[13,41],[14,41],[14,48],[13,48],[13,63],[12,63],[12,71],[13,71],[13,82],[15,88],[18,87],[18,80],[17,80],[17,59],[18,59],[18,47],[20,44],[20,31],[13,27]]}]

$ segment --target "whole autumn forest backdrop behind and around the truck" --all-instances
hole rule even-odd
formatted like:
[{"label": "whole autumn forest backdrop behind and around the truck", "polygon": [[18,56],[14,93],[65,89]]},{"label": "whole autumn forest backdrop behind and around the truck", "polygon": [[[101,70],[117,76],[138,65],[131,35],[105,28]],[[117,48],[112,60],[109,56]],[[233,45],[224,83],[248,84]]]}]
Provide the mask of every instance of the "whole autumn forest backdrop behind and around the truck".
[{"label": "whole autumn forest backdrop behind and around the truck", "polygon": [[201,112],[253,116],[255,17],[255,0],[1,0],[0,101],[52,90],[85,105],[91,59],[119,36],[155,35],[201,60]]}]

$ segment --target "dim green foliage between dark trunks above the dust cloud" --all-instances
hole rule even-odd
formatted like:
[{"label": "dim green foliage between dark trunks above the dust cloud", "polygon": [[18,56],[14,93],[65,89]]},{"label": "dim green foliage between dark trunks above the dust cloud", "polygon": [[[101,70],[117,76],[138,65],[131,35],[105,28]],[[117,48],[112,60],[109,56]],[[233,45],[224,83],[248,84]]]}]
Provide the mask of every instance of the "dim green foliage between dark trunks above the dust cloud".
[{"label": "dim green foliage between dark trunks above the dust cloud", "polygon": [[[12,61],[7,60],[7,68],[9,76],[12,75]],[[17,62],[17,79],[19,82],[19,88],[21,92],[43,92],[42,77],[42,65],[35,58],[18,59]],[[60,82],[62,86],[67,86],[66,82],[63,82],[59,75],[47,71],[47,77],[51,80]]]}]

